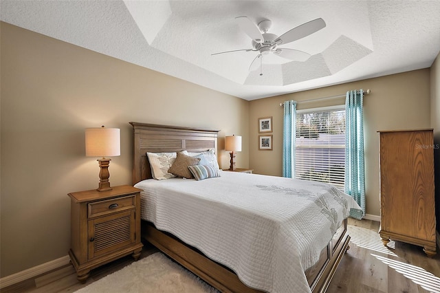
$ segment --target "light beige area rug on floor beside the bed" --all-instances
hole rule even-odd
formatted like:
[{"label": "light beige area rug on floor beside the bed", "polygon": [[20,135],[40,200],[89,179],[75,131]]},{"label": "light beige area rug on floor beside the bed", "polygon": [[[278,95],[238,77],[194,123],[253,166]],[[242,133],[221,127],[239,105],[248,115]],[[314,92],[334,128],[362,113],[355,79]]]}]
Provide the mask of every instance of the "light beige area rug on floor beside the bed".
[{"label": "light beige area rug on floor beside the bed", "polygon": [[217,293],[195,274],[161,252],[135,261],[122,270],[83,287],[77,293]]}]

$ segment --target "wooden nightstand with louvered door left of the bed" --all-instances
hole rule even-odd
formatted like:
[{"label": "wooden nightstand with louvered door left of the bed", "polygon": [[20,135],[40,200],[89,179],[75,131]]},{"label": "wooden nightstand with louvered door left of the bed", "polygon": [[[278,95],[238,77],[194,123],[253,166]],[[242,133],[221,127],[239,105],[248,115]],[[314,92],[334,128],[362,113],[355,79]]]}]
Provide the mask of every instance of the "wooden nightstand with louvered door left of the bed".
[{"label": "wooden nightstand with louvered door left of the bed", "polygon": [[110,191],[69,193],[71,199],[70,259],[78,281],[85,282],[90,270],[127,254],[139,259],[140,189],[115,186]]}]

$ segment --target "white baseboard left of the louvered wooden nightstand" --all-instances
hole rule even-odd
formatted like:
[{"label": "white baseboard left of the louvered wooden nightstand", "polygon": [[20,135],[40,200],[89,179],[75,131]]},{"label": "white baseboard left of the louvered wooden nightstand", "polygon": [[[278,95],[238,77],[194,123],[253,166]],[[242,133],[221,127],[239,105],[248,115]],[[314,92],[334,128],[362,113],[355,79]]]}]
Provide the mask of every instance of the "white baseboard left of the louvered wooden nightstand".
[{"label": "white baseboard left of the louvered wooden nightstand", "polygon": [[33,268],[28,268],[27,270],[11,274],[10,276],[5,276],[0,279],[0,289],[17,284],[27,279],[34,278],[34,276],[39,276],[40,274],[44,274],[50,270],[61,268],[63,265],[67,265],[69,261],[70,258],[68,255],[66,255],[65,257],[60,257],[59,259],[54,259],[53,261],[36,265]]}]

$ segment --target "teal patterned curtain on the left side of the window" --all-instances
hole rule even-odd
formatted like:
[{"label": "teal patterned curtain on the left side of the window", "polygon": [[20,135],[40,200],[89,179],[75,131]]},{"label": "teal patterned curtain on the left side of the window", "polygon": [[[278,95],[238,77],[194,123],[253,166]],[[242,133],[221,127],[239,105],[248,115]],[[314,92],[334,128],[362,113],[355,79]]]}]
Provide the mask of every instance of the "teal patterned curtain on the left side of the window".
[{"label": "teal patterned curtain on the left side of the window", "polygon": [[284,102],[283,177],[295,176],[296,102]]}]

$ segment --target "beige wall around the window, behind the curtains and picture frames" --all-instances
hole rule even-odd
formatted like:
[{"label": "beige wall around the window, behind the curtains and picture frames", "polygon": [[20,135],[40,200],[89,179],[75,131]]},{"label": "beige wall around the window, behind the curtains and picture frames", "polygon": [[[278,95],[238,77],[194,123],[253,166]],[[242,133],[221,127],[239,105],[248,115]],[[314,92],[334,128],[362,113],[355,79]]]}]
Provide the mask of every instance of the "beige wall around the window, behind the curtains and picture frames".
[{"label": "beige wall around the window, behind the curtains and picture frames", "polygon": [[[430,69],[302,91],[250,102],[250,168],[255,173],[282,175],[283,108],[285,100],[309,100],[344,94],[351,89],[371,89],[364,98],[366,213],[380,215],[378,130],[430,127]],[[298,109],[340,105],[344,98],[299,103]],[[437,108],[438,111],[438,108]],[[259,151],[257,121],[272,116],[274,150]]]}]

